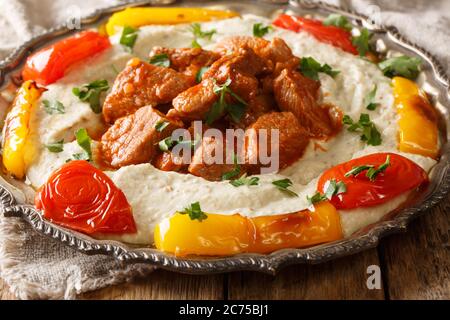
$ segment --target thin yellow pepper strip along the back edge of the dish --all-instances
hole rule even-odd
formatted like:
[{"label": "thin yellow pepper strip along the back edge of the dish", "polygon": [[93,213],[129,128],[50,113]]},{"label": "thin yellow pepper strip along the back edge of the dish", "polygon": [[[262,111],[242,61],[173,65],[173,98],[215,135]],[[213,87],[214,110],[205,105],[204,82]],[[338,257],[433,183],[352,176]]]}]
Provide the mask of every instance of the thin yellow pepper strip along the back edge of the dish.
[{"label": "thin yellow pepper strip along the back edge of the dish", "polygon": [[239,16],[228,10],[205,8],[127,8],[114,13],[106,24],[108,35],[112,36],[124,26],[141,27],[149,24],[178,24],[196,21],[211,21]]}]

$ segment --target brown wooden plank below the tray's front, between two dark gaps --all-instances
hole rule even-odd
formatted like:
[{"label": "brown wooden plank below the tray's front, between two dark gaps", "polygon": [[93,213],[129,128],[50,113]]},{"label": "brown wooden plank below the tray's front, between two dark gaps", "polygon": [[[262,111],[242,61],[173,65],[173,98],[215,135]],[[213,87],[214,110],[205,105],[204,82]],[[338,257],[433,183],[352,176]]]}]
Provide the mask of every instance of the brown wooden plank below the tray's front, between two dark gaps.
[{"label": "brown wooden plank below the tray's front, between two dark gaps", "polygon": [[297,265],[275,277],[252,272],[232,273],[230,299],[384,299],[383,289],[366,286],[367,267],[378,265],[376,249],[319,265]]}]

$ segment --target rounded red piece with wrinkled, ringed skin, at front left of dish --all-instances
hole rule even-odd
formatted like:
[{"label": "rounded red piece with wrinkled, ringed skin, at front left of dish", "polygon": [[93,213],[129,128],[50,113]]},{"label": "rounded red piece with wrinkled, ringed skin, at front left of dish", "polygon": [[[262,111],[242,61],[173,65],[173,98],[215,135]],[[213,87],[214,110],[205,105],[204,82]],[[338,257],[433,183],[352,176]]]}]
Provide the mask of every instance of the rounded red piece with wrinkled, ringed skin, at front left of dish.
[{"label": "rounded red piece with wrinkled, ringed skin, at front left of dish", "polygon": [[56,170],[36,194],[44,218],[87,234],[135,233],[132,209],[123,192],[87,161]]}]

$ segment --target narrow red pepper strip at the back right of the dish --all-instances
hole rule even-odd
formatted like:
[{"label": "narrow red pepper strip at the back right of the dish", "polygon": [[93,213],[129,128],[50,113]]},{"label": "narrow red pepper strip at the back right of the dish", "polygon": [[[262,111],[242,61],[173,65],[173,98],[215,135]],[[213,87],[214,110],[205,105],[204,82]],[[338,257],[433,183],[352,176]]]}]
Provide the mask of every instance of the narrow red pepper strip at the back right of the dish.
[{"label": "narrow red pepper strip at the back right of the dish", "polygon": [[350,32],[335,26],[325,26],[320,20],[282,14],[275,19],[273,24],[295,32],[308,32],[319,41],[331,44],[349,53],[358,54],[358,50],[352,44]]}]

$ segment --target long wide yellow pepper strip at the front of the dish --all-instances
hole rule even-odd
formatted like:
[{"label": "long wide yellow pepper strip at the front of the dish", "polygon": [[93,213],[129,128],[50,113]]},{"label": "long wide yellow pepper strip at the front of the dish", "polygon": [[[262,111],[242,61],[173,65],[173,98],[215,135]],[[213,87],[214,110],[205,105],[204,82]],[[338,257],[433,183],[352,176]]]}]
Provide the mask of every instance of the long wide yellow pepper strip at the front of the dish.
[{"label": "long wide yellow pepper strip at the front of the dish", "polygon": [[176,213],[155,228],[156,248],[176,256],[269,253],[342,238],[339,214],[329,202],[284,215],[247,218],[208,214],[203,221]]}]

